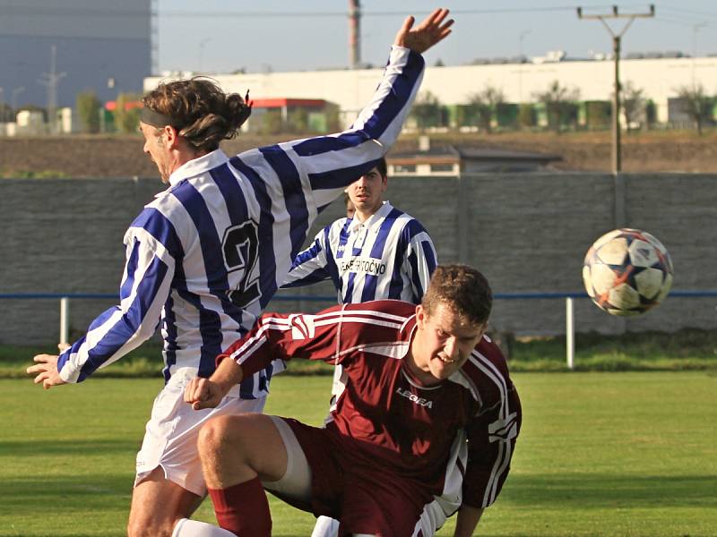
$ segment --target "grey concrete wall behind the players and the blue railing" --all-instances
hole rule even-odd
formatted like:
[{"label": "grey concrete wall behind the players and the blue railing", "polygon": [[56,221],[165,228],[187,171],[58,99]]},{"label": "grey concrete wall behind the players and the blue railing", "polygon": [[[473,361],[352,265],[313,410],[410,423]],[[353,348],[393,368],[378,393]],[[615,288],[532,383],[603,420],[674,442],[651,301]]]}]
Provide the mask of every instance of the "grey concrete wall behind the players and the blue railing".
[{"label": "grey concrete wall behind the players and the blue railing", "polygon": [[[0,293],[117,293],[126,227],[162,190],[157,179],[0,181]],[[583,256],[600,234],[637,227],[664,243],[673,289],[715,289],[717,176],[523,174],[392,178],[387,199],[428,228],[439,260],[482,270],[495,293],[582,292]],[[311,236],[341,216],[326,209]],[[334,296],[324,284],[299,295]],[[613,318],[575,301],[576,330],[620,332],[713,328],[715,299],[669,297],[637,319]],[[273,301],[275,311],[315,311],[329,303]],[[82,334],[112,301],[71,303]],[[494,328],[519,335],[563,333],[562,300],[497,300]],[[0,300],[0,343],[55,342],[56,300]]]}]

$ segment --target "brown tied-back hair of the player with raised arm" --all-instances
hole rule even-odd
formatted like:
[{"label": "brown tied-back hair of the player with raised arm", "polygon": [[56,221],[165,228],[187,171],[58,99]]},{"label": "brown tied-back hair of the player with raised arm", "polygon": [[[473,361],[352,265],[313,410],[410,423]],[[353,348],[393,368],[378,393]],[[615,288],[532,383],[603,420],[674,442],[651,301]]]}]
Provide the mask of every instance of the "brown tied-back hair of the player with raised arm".
[{"label": "brown tied-back hair of the player with raised arm", "polygon": [[167,115],[179,136],[203,152],[219,148],[220,141],[235,138],[251,107],[238,93],[224,93],[206,77],[162,82],[142,99],[144,107]]}]

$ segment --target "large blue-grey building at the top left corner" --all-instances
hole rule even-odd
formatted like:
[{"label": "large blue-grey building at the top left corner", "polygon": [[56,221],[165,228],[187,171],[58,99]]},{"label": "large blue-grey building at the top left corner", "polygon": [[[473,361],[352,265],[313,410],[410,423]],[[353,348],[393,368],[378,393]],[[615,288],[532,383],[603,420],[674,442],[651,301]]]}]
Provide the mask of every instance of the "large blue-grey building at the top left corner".
[{"label": "large blue-grey building at the top left corner", "polygon": [[151,74],[153,0],[0,0],[0,104],[74,107],[140,92]]}]

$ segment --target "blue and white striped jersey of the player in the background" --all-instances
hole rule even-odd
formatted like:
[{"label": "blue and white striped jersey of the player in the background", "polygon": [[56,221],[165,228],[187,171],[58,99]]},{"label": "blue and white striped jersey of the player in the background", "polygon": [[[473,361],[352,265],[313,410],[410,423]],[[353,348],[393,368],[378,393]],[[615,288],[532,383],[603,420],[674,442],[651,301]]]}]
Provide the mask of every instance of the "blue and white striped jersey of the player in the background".
[{"label": "blue and white striped jersey of the player in the background", "polygon": [[436,269],[436,249],[420,222],[384,204],[365,222],[340,218],[298,254],[283,287],[331,278],[339,303],[393,298],[420,303]]}]

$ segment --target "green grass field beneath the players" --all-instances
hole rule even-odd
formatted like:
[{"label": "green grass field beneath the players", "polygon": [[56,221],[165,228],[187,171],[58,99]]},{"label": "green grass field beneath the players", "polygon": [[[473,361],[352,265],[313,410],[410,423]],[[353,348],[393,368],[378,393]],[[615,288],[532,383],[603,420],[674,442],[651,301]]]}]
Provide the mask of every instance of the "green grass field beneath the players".
[{"label": "green grass field beneath the players", "polygon": [[[480,535],[708,537],[717,533],[717,376],[516,373],[523,431]],[[318,423],[330,379],[277,377],[268,411]],[[134,454],[156,379],[48,392],[0,380],[0,535],[123,535]],[[272,501],[274,534],[313,517]],[[213,521],[211,505],[197,516]],[[449,524],[439,533],[452,534]]]}]

